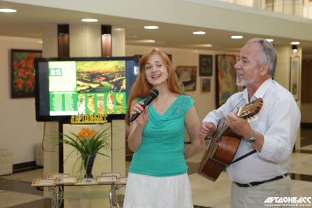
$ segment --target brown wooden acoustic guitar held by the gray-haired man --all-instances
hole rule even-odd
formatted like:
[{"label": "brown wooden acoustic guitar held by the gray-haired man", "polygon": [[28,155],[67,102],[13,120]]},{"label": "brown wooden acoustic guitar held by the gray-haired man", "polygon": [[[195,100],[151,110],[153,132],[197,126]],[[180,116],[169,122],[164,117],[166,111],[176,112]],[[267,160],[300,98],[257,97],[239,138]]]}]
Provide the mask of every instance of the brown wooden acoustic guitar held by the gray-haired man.
[{"label": "brown wooden acoustic guitar held by the gray-haired man", "polygon": [[[263,100],[258,98],[239,108],[238,117],[248,120],[255,118],[263,105]],[[198,175],[216,181],[221,171],[233,160],[241,143],[241,136],[232,132],[223,120],[218,123],[214,136],[210,139],[205,154],[200,162]]]}]

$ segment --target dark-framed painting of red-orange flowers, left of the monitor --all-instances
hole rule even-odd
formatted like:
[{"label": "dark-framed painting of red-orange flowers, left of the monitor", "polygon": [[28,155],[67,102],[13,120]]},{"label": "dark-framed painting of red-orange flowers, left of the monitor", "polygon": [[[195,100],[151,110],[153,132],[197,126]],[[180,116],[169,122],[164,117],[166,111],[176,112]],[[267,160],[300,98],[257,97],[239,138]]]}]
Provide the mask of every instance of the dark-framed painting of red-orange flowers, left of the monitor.
[{"label": "dark-framed painting of red-orange flowers, left of the monitor", "polygon": [[35,97],[34,60],[42,50],[11,50],[11,97]]}]

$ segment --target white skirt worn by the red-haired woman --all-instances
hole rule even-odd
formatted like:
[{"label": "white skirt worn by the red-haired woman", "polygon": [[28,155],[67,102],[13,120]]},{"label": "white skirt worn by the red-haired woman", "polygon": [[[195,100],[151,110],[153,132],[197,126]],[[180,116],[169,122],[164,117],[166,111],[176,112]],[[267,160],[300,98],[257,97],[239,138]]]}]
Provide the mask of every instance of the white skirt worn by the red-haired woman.
[{"label": "white skirt worn by the red-haired woman", "polygon": [[129,173],[123,208],[193,208],[189,176]]}]

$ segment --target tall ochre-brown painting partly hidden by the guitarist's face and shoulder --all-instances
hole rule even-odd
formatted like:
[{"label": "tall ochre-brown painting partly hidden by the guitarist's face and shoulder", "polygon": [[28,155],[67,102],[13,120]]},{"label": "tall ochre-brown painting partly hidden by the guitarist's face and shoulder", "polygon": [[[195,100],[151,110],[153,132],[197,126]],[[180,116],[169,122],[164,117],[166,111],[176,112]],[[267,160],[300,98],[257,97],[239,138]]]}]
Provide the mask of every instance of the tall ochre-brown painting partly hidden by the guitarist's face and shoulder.
[{"label": "tall ochre-brown painting partly hidden by the guitarist's face and shoulder", "polygon": [[238,92],[236,86],[236,55],[216,55],[216,107]]}]

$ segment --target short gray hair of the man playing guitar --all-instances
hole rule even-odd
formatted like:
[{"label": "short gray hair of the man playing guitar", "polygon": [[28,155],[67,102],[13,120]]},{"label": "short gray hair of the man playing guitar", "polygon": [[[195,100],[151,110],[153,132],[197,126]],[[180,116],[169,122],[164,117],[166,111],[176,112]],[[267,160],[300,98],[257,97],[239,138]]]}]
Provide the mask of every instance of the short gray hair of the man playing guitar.
[{"label": "short gray hair of the man playing guitar", "polygon": [[276,53],[275,47],[266,39],[261,39],[261,38],[250,39],[249,41],[247,41],[246,44],[251,44],[254,42],[260,44],[259,64],[268,63],[269,65],[268,73],[272,78],[274,78],[275,68],[276,68],[276,63],[277,63],[277,53]]}]

